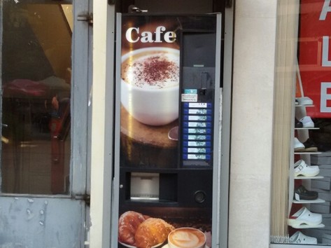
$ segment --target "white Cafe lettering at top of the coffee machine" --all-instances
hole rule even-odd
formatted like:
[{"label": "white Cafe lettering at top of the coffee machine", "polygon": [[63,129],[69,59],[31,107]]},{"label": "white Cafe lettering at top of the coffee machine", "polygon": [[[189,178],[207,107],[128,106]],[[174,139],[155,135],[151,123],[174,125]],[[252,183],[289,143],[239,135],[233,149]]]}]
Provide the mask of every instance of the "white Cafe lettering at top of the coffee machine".
[{"label": "white Cafe lettering at top of the coffee machine", "polygon": [[[129,29],[127,29],[127,32],[125,32],[125,38],[130,43],[136,43],[139,40],[141,41],[141,43],[161,43],[162,39],[167,43],[173,43],[174,41],[176,41],[175,32],[169,31],[164,33],[164,31],[166,31],[166,28],[164,26],[157,27],[154,32],[155,37],[153,38],[153,32],[144,31],[140,34],[139,27],[130,27]],[[132,34],[138,34],[136,39],[132,38]],[[161,36],[161,34],[163,34],[163,37]]]}]

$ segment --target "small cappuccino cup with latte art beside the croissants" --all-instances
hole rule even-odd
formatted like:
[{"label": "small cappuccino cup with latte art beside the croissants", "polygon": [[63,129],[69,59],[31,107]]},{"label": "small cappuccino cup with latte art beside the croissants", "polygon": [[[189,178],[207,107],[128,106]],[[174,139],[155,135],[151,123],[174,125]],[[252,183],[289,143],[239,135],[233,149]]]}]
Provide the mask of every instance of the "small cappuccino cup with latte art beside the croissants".
[{"label": "small cappuccino cup with latte art beside the croissants", "polygon": [[177,228],[168,235],[169,248],[204,248],[206,235],[196,228]]}]

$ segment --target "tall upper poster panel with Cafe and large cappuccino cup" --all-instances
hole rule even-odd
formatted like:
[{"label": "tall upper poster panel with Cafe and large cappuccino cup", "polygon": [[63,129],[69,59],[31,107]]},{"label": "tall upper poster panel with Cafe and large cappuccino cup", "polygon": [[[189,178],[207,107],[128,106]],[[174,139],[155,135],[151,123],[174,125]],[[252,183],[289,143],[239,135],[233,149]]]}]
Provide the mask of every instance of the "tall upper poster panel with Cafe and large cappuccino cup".
[{"label": "tall upper poster panel with Cafe and large cappuccino cup", "polygon": [[181,106],[178,19],[124,19],[117,67],[122,165],[174,167],[178,142],[168,134]]}]

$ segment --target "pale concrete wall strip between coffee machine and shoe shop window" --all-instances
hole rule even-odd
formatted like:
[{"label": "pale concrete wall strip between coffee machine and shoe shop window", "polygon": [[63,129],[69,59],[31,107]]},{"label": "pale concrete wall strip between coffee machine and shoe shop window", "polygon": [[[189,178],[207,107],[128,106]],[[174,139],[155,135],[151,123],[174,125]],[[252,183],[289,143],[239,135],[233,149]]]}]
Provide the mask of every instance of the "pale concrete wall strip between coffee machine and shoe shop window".
[{"label": "pale concrete wall strip between coffee machine and shoe shop window", "polygon": [[230,248],[269,244],[276,3],[235,6]]}]

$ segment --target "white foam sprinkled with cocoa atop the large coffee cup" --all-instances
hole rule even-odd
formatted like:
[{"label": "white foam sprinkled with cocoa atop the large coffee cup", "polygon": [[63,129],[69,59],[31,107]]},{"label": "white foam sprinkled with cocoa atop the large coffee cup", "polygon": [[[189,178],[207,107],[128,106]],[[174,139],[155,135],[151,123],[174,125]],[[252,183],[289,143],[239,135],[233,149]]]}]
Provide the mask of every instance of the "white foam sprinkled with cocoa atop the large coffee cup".
[{"label": "white foam sprinkled with cocoa atop the large coffee cup", "polygon": [[179,56],[159,52],[127,59],[122,76],[131,85],[145,89],[171,88],[179,84]]}]

